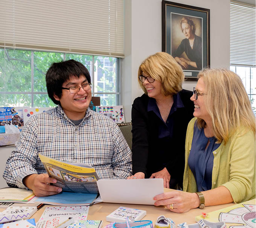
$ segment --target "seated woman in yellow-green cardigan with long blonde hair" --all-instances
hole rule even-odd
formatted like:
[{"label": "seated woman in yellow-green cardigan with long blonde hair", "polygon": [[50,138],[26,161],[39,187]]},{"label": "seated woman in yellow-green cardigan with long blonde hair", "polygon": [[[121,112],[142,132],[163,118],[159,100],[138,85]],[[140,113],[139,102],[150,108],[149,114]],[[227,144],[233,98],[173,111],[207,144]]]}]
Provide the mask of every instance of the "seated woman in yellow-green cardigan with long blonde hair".
[{"label": "seated woman in yellow-green cardigan with long blonde hair", "polygon": [[184,192],[155,196],[174,212],[255,198],[255,116],[241,79],[227,69],[198,74],[187,128]]}]

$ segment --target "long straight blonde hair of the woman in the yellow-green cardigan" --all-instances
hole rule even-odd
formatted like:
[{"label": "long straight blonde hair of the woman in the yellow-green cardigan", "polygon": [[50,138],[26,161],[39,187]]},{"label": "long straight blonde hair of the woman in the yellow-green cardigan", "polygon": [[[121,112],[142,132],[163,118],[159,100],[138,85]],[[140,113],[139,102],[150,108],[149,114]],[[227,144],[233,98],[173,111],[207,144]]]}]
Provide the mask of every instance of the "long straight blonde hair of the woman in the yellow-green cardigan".
[{"label": "long straight blonde hair of the woman in the yellow-green cardigan", "polygon": [[[213,134],[217,143],[229,137],[239,127],[251,129],[255,134],[255,116],[251,103],[239,76],[227,69],[205,69],[198,78],[202,78],[206,86],[204,102],[212,119]],[[198,118],[198,127],[206,126],[203,119]]]}]

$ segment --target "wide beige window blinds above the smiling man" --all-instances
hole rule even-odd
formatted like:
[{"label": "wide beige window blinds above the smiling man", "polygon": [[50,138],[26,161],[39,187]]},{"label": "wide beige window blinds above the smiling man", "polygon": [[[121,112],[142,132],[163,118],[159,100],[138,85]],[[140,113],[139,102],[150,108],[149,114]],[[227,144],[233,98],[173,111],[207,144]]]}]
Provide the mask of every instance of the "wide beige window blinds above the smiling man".
[{"label": "wide beige window blinds above the smiling man", "polygon": [[123,0],[2,0],[0,46],[123,57]]}]

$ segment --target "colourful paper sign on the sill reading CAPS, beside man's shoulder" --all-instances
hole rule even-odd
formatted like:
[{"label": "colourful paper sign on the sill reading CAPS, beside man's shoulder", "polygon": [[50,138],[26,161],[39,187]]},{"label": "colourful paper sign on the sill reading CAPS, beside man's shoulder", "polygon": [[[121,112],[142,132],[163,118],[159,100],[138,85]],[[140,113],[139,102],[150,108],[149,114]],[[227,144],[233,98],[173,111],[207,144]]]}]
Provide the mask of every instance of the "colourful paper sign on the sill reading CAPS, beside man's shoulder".
[{"label": "colourful paper sign on the sill reading CAPS, beside man's shoulder", "polygon": [[125,114],[123,112],[123,106],[97,106],[96,111],[108,116],[115,123],[124,123],[125,122]]}]

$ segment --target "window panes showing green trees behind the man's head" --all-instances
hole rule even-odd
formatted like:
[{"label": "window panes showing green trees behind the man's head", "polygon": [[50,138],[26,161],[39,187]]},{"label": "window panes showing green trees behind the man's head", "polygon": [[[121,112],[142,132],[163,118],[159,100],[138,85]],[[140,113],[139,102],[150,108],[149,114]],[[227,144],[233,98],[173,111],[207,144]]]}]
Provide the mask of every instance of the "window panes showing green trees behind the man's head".
[{"label": "window panes showing green trees behind the man's head", "polygon": [[119,58],[0,49],[0,106],[56,106],[48,97],[45,73],[62,59],[85,65],[91,75],[92,96],[101,97],[101,105],[120,105]]}]

